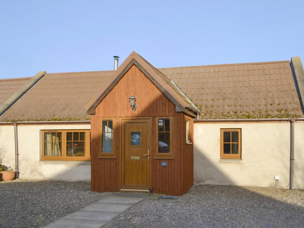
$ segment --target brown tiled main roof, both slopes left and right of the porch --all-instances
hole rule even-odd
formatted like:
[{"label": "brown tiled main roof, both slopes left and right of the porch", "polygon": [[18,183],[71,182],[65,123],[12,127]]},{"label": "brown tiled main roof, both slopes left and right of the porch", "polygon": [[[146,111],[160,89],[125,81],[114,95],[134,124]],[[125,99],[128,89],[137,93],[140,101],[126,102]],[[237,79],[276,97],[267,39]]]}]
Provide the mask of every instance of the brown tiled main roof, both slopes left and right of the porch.
[{"label": "brown tiled main roof, both slopes left and right of the porch", "polygon": [[[202,110],[201,119],[303,117],[289,61],[157,71],[172,79]],[[45,74],[0,121],[89,120],[84,106],[94,94],[103,92],[101,87],[113,72]]]}]

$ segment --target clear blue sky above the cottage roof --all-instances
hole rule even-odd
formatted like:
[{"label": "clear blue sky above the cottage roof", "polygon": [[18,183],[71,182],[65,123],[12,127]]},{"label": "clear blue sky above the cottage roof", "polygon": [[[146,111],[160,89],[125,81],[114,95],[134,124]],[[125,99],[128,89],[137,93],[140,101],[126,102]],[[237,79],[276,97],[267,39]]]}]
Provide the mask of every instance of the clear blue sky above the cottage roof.
[{"label": "clear blue sky above the cottage roof", "polygon": [[113,69],[304,61],[304,1],[0,0],[0,78]]}]

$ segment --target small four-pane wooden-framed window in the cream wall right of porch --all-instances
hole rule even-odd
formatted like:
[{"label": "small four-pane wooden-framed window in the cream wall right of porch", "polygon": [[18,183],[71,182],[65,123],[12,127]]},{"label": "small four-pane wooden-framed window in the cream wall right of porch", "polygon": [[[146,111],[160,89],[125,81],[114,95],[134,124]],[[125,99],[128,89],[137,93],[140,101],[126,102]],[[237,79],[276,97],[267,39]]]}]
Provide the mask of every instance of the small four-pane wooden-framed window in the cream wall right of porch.
[{"label": "small four-pane wooden-framed window in the cream wall right of porch", "polygon": [[221,129],[221,159],[241,159],[241,129]]}]

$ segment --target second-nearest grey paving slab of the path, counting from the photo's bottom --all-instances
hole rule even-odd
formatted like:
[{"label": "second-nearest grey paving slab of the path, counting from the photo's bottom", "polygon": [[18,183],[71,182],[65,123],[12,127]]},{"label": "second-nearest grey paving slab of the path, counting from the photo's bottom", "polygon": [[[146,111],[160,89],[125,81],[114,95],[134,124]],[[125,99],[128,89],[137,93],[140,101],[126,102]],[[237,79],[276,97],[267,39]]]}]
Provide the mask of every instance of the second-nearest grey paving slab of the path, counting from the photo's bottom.
[{"label": "second-nearest grey paving slab of the path, counting from the photo's bottom", "polygon": [[112,218],[118,216],[120,212],[97,212],[97,211],[76,211],[63,219],[83,219],[83,220],[97,220],[110,221]]}]

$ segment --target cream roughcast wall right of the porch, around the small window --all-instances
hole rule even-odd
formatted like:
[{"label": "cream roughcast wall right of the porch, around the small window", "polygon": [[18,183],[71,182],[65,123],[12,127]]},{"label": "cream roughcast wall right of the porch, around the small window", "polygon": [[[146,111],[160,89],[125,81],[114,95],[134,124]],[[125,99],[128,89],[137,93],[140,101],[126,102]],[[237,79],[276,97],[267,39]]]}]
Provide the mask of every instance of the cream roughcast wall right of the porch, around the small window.
[{"label": "cream roughcast wall right of the porch, around the small window", "polygon": [[[295,124],[295,188],[303,188],[304,124]],[[242,163],[219,163],[220,129],[241,128]],[[200,184],[275,187],[289,184],[290,123],[195,123],[194,181]]]}]

